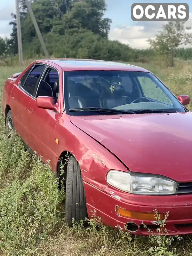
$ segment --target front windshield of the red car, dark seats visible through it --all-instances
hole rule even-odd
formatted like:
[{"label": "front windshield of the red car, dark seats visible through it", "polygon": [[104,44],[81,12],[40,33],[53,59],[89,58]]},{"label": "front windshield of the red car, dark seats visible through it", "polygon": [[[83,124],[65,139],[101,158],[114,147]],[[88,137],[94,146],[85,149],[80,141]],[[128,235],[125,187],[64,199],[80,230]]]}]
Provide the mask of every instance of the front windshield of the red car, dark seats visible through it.
[{"label": "front windshield of the red car, dark seats visible through it", "polygon": [[69,109],[94,107],[136,110],[174,107],[153,78],[143,74],[95,75],[90,78],[86,73],[84,76],[79,74],[67,75],[65,97],[68,97]]}]

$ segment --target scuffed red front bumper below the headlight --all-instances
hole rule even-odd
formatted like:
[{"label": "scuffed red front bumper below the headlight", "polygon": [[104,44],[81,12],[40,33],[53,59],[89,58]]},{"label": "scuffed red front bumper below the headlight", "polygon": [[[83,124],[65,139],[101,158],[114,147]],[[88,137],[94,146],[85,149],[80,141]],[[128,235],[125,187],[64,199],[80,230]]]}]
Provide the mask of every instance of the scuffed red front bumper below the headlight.
[{"label": "scuffed red front bumper below the headlight", "polygon": [[[148,236],[150,233],[143,227],[143,220],[118,216],[116,206],[134,212],[153,212],[157,209],[164,215],[169,212],[164,227],[168,230],[168,235],[192,234],[192,195],[136,196],[112,187],[101,191],[86,182],[84,182],[84,189],[89,218],[96,215],[107,226],[129,231],[125,229],[125,225],[135,223],[138,230],[131,234]],[[154,221],[144,220],[144,223],[156,234],[157,225]]]}]

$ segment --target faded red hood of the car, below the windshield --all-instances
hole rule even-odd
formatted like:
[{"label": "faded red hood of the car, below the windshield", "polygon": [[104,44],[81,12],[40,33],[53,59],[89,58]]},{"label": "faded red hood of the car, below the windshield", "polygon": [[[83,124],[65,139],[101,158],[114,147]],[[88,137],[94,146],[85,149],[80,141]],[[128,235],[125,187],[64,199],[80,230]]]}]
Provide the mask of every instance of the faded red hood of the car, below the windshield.
[{"label": "faded red hood of the car, below the windshield", "polygon": [[132,172],[192,181],[192,113],[70,116]]}]

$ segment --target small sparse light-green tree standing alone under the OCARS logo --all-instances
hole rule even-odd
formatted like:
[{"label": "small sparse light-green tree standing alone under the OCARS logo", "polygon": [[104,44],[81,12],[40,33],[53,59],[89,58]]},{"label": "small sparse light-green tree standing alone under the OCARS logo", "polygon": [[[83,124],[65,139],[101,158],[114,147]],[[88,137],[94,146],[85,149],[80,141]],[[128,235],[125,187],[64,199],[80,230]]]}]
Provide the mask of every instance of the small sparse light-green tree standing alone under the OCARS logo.
[{"label": "small sparse light-green tree standing alone under the OCARS logo", "polygon": [[163,30],[159,31],[155,39],[148,39],[152,49],[159,55],[164,56],[169,66],[174,65],[174,52],[183,44],[191,43],[190,27],[185,26],[185,22],[169,21],[163,25]]}]

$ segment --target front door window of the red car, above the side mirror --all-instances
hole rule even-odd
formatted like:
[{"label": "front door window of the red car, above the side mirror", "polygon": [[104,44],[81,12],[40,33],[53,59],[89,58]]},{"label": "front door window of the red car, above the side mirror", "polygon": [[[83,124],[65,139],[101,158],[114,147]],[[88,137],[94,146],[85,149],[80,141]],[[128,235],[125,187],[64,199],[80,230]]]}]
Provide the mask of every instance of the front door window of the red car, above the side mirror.
[{"label": "front door window of the red car, above the side mirror", "polygon": [[39,96],[53,97],[55,103],[57,102],[59,96],[59,73],[56,69],[47,68],[37,89],[36,97]]}]

